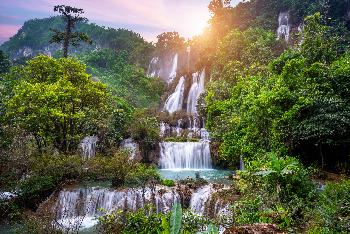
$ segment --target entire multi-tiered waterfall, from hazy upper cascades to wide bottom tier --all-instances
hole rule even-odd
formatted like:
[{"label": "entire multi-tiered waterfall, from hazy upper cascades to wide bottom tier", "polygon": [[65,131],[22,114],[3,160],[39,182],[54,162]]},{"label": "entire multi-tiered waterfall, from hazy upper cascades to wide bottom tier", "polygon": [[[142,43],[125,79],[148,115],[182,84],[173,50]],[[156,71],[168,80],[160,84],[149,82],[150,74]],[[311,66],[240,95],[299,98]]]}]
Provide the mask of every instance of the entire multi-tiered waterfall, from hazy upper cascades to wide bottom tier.
[{"label": "entire multi-tiered waterfall, from hazy upper cascades to wide bottom tier", "polygon": [[[162,67],[161,60],[162,58],[160,57],[152,59],[149,75],[160,76],[165,74],[164,77],[167,81],[173,80],[178,82],[173,93],[167,98],[162,110],[169,113],[172,117],[176,116],[175,113],[178,111],[187,113],[187,116],[182,114],[179,119],[173,121],[176,122],[176,126],[171,125],[171,123],[161,123],[160,136],[164,140],[159,143],[159,167],[161,168],[161,174],[162,172],[173,173],[172,175],[180,173],[182,176],[185,175],[187,177],[191,175],[191,177],[194,177],[198,171],[201,171],[201,173],[204,171],[206,173],[219,173],[216,170],[212,170],[209,134],[204,129],[204,123],[199,118],[196,108],[198,99],[204,92],[205,71],[199,71],[190,77],[180,77],[177,69],[177,54],[173,55],[171,62],[167,63],[168,67]],[[187,61],[189,63],[189,58]],[[169,87],[171,86],[169,85]],[[187,89],[187,94],[186,87],[189,88]],[[167,141],[167,137],[174,136],[182,139],[187,138],[188,140],[187,142]],[[82,142],[81,146],[86,158],[95,154],[96,142],[97,138],[95,137],[88,137]],[[122,148],[129,150],[132,157],[137,156],[138,146],[132,139],[123,141]],[[222,178],[225,175],[227,174],[220,174],[219,176]],[[176,179],[177,177],[172,178]],[[203,176],[202,178],[206,177]],[[95,226],[97,224],[96,217],[100,217],[104,213],[116,210],[135,211],[146,204],[152,204],[157,212],[167,212],[175,202],[182,201],[181,196],[184,196],[184,193],[181,192],[181,186],[186,185],[174,188],[156,186],[154,188],[129,188],[122,190],[95,187],[63,189],[56,201],[55,224],[65,230],[89,228]],[[191,194],[189,208],[197,214],[203,215],[206,212],[211,212],[211,207],[214,207],[213,212],[215,214],[219,214],[222,208],[225,207],[220,198],[213,196],[217,188],[212,184],[198,188],[190,187],[189,190]],[[188,191],[188,187],[184,191]]]}]

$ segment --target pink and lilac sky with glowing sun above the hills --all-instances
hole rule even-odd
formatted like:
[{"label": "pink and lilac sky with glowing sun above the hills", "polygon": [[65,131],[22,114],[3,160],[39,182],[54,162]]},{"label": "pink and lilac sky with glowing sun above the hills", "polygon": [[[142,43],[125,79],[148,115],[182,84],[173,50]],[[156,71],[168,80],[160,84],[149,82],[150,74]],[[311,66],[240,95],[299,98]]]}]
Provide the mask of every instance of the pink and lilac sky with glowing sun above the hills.
[{"label": "pink and lilac sky with glowing sun above the hills", "polygon": [[[236,4],[238,0],[233,0]],[[127,28],[155,41],[162,32],[198,35],[210,18],[210,0],[0,0],[0,44],[26,20],[55,16],[55,5],[83,8],[91,23]]]}]

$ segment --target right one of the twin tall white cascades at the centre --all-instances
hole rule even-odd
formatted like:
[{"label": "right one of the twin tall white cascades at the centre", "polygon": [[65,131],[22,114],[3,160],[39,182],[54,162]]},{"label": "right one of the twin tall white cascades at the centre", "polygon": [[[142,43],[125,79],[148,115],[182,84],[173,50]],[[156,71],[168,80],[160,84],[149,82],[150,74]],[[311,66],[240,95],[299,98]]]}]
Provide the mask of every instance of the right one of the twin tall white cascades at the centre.
[{"label": "right one of the twin tall white cascades at the centre", "polygon": [[192,86],[188,93],[187,99],[187,113],[197,114],[197,102],[199,96],[204,93],[204,81],[205,81],[205,70],[200,74],[194,73],[192,75]]}]

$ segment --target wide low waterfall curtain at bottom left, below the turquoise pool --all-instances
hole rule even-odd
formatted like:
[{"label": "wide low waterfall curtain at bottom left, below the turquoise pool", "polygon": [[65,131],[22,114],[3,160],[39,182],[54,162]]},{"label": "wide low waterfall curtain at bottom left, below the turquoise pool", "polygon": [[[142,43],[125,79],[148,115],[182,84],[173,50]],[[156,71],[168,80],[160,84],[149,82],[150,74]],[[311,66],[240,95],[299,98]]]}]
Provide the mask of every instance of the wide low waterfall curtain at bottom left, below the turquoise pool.
[{"label": "wide low waterfall curtain at bottom left, below the turquoise pool", "polygon": [[101,210],[132,210],[153,204],[157,212],[167,212],[179,195],[166,187],[128,189],[124,191],[106,188],[78,188],[62,190],[56,203],[56,221],[61,228],[90,228],[97,224],[96,217],[103,215]]}]

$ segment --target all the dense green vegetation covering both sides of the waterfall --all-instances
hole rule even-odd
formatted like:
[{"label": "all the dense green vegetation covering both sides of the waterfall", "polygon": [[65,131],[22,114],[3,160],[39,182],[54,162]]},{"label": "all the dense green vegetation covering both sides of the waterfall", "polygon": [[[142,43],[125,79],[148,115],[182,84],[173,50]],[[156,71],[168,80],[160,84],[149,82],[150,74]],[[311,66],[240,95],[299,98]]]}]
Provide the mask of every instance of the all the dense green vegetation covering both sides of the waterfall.
[{"label": "all the dense green vegetation covering both sides of the waterfall", "polygon": [[[315,183],[324,183],[325,171],[350,171],[348,9],[340,0],[253,0],[236,7],[213,0],[209,28],[187,42],[163,33],[153,46],[131,31],[81,23],[77,28],[93,47],[12,66],[6,52],[15,58],[23,46],[43,50],[52,36],[48,25],[64,25],[58,17],[27,22],[0,53],[0,186],[20,191],[0,201],[1,218],[23,218],[23,210],[35,210],[69,181],[174,186],[150,165],[160,140],[155,107],[165,85],[145,70],[154,50],[191,45],[195,67],[210,74],[199,109],[218,146],[218,164],[245,162],[225,195],[234,198],[227,220],[182,212],[176,204],[167,214],[154,207],[107,213],[100,231],[217,233],[215,226],[271,223],[292,233],[350,232],[349,180]],[[286,11],[292,37],[276,40],[278,14]],[[90,135],[100,144],[98,155],[86,160],[78,156],[79,142]],[[128,137],[139,143],[140,160],[119,148]],[[33,221],[28,232],[57,231],[33,217],[25,218]]]}]

